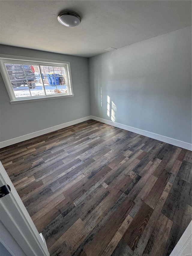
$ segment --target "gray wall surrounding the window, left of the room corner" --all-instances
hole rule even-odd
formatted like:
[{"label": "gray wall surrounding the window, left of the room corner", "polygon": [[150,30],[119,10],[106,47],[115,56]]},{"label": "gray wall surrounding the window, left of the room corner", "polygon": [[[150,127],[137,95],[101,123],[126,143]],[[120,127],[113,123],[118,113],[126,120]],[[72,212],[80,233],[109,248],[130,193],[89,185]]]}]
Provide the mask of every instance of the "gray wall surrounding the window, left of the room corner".
[{"label": "gray wall surrounding the window, left of the room corner", "polygon": [[5,45],[0,45],[0,53],[69,61],[75,95],[70,98],[11,105],[0,75],[0,141],[9,140],[90,115],[87,58]]}]

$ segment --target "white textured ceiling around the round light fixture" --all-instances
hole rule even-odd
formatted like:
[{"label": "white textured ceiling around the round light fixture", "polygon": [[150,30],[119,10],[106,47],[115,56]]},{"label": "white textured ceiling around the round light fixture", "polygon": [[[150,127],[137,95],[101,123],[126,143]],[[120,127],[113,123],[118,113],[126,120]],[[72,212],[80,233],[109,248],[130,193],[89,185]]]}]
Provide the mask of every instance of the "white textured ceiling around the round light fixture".
[{"label": "white textured ceiling around the round light fixture", "polygon": [[[77,27],[61,25],[76,11]],[[191,26],[191,1],[0,1],[0,43],[90,57]]]}]

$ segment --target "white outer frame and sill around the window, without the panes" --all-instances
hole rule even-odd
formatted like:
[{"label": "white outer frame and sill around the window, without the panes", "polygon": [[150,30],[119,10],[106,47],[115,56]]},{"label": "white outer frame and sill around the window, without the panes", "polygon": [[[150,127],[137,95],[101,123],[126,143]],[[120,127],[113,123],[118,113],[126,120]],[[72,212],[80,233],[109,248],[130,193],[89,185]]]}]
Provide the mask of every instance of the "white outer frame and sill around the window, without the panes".
[{"label": "white outer frame and sill around the window, without the panes", "polygon": [[[66,77],[68,84],[68,93],[62,95],[40,95],[40,96],[28,96],[28,97],[19,97],[16,98],[13,87],[11,85],[9,75],[7,73],[7,69],[5,67],[5,63],[10,64],[22,64],[22,65],[44,65],[44,66],[57,66],[57,67],[65,67],[66,68]],[[10,97],[10,104],[18,104],[18,103],[26,103],[33,101],[42,101],[42,100],[50,100],[56,98],[66,98],[73,97],[73,85],[71,79],[71,69],[70,62],[63,61],[54,61],[48,59],[38,59],[38,58],[28,58],[28,57],[20,57],[20,56],[10,56],[0,54],[0,71],[2,78],[4,80],[8,95]],[[40,71],[41,72],[41,71]]]}]

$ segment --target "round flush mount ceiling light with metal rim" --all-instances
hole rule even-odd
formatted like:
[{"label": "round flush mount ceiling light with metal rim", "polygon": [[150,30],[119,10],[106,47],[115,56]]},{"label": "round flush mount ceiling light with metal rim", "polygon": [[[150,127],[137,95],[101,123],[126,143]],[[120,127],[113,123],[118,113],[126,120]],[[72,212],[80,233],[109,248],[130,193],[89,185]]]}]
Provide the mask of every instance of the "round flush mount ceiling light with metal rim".
[{"label": "round flush mount ceiling light with metal rim", "polygon": [[81,17],[73,12],[64,12],[58,15],[58,21],[66,27],[75,27],[81,23]]}]

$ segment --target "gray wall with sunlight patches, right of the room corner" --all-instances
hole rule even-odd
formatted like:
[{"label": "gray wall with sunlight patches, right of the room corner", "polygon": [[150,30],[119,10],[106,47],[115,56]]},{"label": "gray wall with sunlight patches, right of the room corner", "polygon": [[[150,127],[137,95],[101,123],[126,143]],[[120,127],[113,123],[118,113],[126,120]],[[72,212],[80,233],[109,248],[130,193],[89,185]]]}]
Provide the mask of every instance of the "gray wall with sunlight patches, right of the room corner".
[{"label": "gray wall with sunlight patches, right of the room corner", "polygon": [[91,115],[113,101],[116,122],[191,143],[191,27],[92,57],[89,77]]}]

